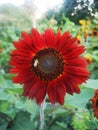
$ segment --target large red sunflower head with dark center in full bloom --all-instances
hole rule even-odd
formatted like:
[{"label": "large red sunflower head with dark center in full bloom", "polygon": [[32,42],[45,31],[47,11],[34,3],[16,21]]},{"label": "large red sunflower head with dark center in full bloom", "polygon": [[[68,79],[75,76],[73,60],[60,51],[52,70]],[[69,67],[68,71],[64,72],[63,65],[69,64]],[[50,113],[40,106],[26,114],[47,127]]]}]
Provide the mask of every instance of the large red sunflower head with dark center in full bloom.
[{"label": "large red sunflower head with dark center in full bloom", "polygon": [[69,32],[60,30],[54,35],[51,29],[40,34],[32,29],[22,32],[22,38],[14,42],[10,72],[16,74],[14,83],[24,84],[23,96],[35,97],[41,104],[48,95],[50,102],[64,103],[67,93],[80,93],[79,84],[88,79],[86,61],[80,57],[85,51]]}]

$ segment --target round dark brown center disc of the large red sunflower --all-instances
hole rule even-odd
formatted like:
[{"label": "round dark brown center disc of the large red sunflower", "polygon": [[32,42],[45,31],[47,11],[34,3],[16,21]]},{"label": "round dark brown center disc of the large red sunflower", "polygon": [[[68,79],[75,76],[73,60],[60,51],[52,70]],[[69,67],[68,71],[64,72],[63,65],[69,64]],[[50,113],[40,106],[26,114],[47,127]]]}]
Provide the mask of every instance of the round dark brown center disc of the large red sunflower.
[{"label": "round dark brown center disc of the large red sunflower", "polygon": [[32,59],[32,69],[42,80],[56,79],[64,70],[62,55],[52,48],[46,48],[36,53]]}]

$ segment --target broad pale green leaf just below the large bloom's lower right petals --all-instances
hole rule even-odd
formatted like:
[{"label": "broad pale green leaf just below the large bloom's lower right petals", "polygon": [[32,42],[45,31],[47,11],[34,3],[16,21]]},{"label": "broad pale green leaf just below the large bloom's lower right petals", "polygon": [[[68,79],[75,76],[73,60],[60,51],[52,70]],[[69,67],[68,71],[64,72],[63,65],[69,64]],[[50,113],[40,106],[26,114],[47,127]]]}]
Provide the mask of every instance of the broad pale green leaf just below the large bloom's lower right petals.
[{"label": "broad pale green leaf just below the large bloom's lower right petals", "polygon": [[65,97],[65,106],[68,104],[76,108],[85,109],[87,102],[93,97],[93,95],[94,91],[92,89],[83,89],[80,94],[67,94]]}]

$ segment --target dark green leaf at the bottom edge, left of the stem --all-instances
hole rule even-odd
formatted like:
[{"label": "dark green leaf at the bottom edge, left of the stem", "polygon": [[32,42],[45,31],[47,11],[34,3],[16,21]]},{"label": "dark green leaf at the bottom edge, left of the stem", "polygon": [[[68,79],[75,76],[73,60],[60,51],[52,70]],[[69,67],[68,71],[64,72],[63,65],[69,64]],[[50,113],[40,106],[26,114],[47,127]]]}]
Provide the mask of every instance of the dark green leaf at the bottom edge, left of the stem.
[{"label": "dark green leaf at the bottom edge, left of the stem", "polygon": [[33,121],[30,120],[30,115],[21,111],[17,113],[12,126],[8,130],[35,130],[35,128]]}]

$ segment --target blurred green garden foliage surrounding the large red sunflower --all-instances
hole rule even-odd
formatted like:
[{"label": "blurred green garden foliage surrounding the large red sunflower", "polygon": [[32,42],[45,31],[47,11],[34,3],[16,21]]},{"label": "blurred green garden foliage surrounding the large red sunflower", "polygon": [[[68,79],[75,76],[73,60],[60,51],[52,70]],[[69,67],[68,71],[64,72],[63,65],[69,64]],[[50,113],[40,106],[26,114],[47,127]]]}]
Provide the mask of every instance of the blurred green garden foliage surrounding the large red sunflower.
[{"label": "blurred green garden foliage surrounding the large red sunflower", "polygon": [[[88,4],[89,1],[87,0]],[[29,3],[28,3],[29,4]],[[83,8],[78,10],[78,5]],[[43,32],[51,27],[55,32],[58,27],[61,32],[67,30],[76,36],[80,45],[86,47],[82,55],[88,62],[91,72],[89,80],[81,86],[81,93],[65,96],[63,106],[51,105],[48,99],[45,103],[44,130],[97,130],[98,120],[89,109],[90,99],[94,90],[98,89],[98,17],[94,14],[98,11],[98,2],[92,4],[93,11],[84,6],[84,2],[71,0],[65,2],[62,7],[47,11],[45,16],[36,20],[36,28]],[[69,6],[68,6],[69,5]],[[24,6],[25,7],[25,6]],[[34,10],[29,6],[29,9]],[[76,10],[75,10],[76,9]],[[34,16],[28,8],[16,7],[11,4],[0,7],[0,130],[38,130],[39,106],[33,100],[22,96],[22,85],[13,84],[13,75],[9,74],[10,52],[14,49],[13,41],[18,40],[21,31],[29,32],[34,26],[31,16]],[[71,14],[75,12],[74,16]],[[78,13],[80,13],[78,15]],[[85,13],[85,15],[84,15]],[[93,14],[93,15],[92,15]],[[84,17],[85,16],[85,17]],[[74,17],[74,19],[73,19]],[[96,31],[97,35],[93,34]]]}]

